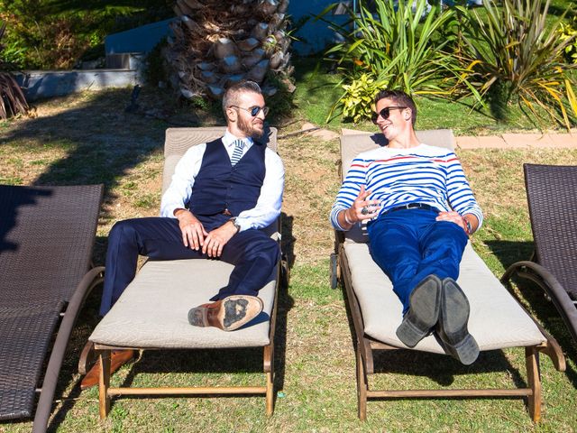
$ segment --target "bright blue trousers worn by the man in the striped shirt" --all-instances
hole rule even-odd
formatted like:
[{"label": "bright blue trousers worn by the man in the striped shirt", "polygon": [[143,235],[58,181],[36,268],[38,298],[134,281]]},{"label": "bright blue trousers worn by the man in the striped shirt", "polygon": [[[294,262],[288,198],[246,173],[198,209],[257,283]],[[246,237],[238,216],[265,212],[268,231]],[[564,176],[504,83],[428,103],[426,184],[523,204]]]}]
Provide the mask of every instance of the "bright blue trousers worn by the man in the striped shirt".
[{"label": "bright blue trousers worn by the man in the striped shirt", "polygon": [[409,296],[427,275],[441,280],[459,276],[459,263],[468,236],[451,221],[435,221],[429,209],[403,209],[385,213],[367,230],[371,256],[393,283],[393,290],[409,307]]}]

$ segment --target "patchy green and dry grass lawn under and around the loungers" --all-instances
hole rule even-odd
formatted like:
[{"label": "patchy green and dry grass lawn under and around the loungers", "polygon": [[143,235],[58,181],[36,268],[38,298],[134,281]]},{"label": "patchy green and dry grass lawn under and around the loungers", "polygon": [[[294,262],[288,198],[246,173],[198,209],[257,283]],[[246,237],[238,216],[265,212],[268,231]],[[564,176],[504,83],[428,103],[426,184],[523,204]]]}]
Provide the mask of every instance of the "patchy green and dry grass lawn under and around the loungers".
[{"label": "patchy green and dry grass lawn under and around the loungers", "polygon": [[[303,74],[303,83],[307,76]],[[280,134],[315,121],[317,101],[334,93],[321,76],[298,89],[292,119],[275,124]],[[325,80],[325,81],[324,81]],[[316,90],[315,90],[316,88]],[[323,90],[325,88],[325,90]],[[316,93],[315,93],[316,92]],[[326,92],[326,93],[325,93]],[[158,214],[164,130],[158,119],[124,113],[130,89],[84,93],[36,105],[36,116],[0,124],[0,182],[10,184],[105,183],[105,204],[97,231],[95,263],[104,263],[106,235],[118,219]],[[307,101],[311,101],[310,104]],[[313,101],[315,101],[313,103]],[[144,88],[145,108],[172,107],[169,96]],[[190,108],[170,108],[179,124],[215,124],[215,117]],[[440,109],[440,108],[439,108]],[[423,103],[422,127],[457,125],[458,132],[490,134],[489,126],[471,126],[460,106]],[[192,111],[192,112],[191,112]],[[318,113],[319,118],[324,114]],[[436,121],[443,118],[443,124]],[[353,125],[334,121],[332,128]],[[490,123],[490,121],[487,121]],[[430,125],[430,126],[429,126]],[[370,129],[370,124],[361,125]],[[299,135],[279,141],[287,169],[283,203],[285,246],[294,254],[289,290],[279,299],[274,416],[264,415],[256,397],[122,398],[105,421],[98,419],[96,389],[80,392],[78,355],[98,321],[100,290],[95,290],[69,345],[61,373],[51,427],[58,431],[563,431],[577,429],[577,352],[561,319],[545,299],[521,287],[521,299],[563,346],[566,373],[542,357],[543,420],[534,425],[522,400],[371,401],[368,420],[357,419],[353,337],[343,292],[329,287],[333,232],[327,215],[339,187],[338,143]],[[486,221],[473,245],[498,276],[509,263],[527,259],[531,232],[522,175],[527,161],[577,164],[577,151],[461,151],[459,156]],[[524,382],[524,354],[511,349],[481,354],[471,367],[447,356],[407,352],[378,361],[395,375],[372,379],[377,385],[411,387],[505,386]],[[426,368],[432,367],[432,368]],[[223,373],[233,368],[238,373]],[[140,359],[114,374],[113,383],[134,385],[240,384],[260,377],[254,351],[217,353],[143,352]],[[197,373],[200,371],[201,373]],[[475,374],[472,374],[475,373]],[[0,432],[29,431],[29,421],[0,424]]]}]

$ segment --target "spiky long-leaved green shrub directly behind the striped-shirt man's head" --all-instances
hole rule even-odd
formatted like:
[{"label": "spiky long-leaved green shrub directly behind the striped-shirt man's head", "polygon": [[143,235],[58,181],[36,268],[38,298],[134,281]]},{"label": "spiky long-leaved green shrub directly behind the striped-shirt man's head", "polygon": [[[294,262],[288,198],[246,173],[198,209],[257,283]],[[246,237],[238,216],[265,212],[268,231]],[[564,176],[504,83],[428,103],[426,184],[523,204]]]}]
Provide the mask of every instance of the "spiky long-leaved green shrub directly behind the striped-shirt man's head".
[{"label": "spiky long-leaved green shrub directly behind the striped-shirt man's head", "polygon": [[[360,86],[366,87],[360,81],[366,75],[379,85],[401,89],[409,95],[455,97],[457,90],[464,87],[479,97],[466,82],[466,71],[453,55],[459,28],[453,8],[442,9],[417,0],[413,11],[412,4],[374,0],[376,14],[372,14],[361,2],[358,13],[350,13],[351,25],[335,27],[344,41],[326,51],[326,55],[336,56],[346,77],[344,83],[352,86],[347,91],[358,92]],[[335,107],[344,114],[343,104],[354,98],[341,98]],[[354,110],[357,119],[370,113],[366,106]]]}]

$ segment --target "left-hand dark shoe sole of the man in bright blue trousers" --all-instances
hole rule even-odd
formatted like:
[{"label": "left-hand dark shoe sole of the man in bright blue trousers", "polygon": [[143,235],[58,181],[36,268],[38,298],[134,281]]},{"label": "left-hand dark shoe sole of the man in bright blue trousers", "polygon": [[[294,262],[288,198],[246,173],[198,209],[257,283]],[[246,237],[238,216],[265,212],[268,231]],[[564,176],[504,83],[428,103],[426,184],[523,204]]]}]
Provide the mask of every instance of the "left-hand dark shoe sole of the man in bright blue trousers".
[{"label": "left-hand dark shoe sole of the man in bright blue trousers", "polygon": [[429,333],[439,318],[441,281],[429,275],[410,295],[410,307],[398,326],[398,339],[408,347],[415,347]]}]

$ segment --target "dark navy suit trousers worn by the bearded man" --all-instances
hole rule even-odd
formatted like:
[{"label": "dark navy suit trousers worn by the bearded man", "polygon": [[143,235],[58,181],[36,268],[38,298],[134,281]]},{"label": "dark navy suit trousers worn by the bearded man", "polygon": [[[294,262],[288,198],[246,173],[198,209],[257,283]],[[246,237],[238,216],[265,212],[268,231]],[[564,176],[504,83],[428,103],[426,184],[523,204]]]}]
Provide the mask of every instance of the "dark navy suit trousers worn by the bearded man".
[{"label": "dark navy suit trousers worn by the bearded man", "polygon": [[[207,231],[214,228],[204,221],[203,225]],[[208,258],[202,251],[184,246],[179,221],[175,218],[134,218],[116,223],[108,235],[105,285],[100,304],[102,316],[133,281],[139,254],[148,256],[149,260]],[[249,229],[237,233],[224,245],[220,257],[220,260],[234,264],[234,271],[228,285],[211,300],[232,294],[256,296],[269,282],[279,256],[279,244],[264,232]],[[191,286],[192,283],[190,281]]]}]

